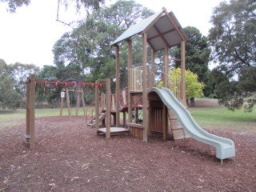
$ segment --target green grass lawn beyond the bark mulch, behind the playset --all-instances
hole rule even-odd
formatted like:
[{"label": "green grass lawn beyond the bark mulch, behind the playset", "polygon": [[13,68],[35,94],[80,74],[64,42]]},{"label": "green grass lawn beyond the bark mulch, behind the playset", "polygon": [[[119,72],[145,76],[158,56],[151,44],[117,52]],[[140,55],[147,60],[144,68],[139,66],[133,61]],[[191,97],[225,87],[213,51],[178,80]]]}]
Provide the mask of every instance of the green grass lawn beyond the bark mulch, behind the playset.
[{"label": "green grass lawn beyond the bark mulch, behind the playset", "polygon": [[[230,111],[223,106],[216,107],[194,107],[190,108],[190,113],[202,128],[216,129],[235,129],[235,130],[256,130],[256,111],[245,113],[243,110]],[[71,115],[75,115],[75,108],[71,109]],[[82,108],[78,111],[83,115]],[[60,115],[59,109],[37,109],[35,116],[47,117]],[[68,115],[68,110],[63,109],[62,115]],[[1,111],[0,110],[0,128],[5,126],[14,126],[15,122],[6,122],[11,120],[26,119],[26,110]]]}]

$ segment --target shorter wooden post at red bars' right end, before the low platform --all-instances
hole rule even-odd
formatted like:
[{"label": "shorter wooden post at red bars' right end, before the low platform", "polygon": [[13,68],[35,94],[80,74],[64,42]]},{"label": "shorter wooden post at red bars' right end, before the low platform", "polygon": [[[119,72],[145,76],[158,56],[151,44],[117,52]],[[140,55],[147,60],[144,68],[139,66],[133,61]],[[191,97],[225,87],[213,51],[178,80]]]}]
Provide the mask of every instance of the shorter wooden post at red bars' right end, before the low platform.
[{"label": "shorter wooden post at red bars' right end, before the low platform", "polygon": [[111,90],[110,78],[106,78],[106,138],[110,138],[111,126]]}]

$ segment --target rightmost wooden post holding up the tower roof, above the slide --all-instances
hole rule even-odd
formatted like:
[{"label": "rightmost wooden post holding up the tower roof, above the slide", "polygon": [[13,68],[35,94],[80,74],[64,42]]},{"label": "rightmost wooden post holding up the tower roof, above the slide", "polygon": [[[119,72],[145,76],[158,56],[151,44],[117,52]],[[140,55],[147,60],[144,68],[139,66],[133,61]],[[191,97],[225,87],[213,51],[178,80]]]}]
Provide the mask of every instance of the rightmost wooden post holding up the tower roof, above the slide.
[{"label": "rightmost wooden post holding up the tower roof, above the slide", "polygon": [[186,73],[186,61],[185,61],[185,42],[181,42],[181,70],[182,70],[182,79],[181,79],[181,100],[182,104],[186,106],[186,78],[185,78],[185,73]]}]

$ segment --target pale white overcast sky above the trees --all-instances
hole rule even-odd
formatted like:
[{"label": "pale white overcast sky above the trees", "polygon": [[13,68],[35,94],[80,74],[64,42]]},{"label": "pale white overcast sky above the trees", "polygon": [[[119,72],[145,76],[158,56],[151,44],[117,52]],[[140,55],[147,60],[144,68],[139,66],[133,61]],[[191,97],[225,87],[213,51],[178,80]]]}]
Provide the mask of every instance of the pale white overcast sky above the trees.
[{"label": "pale white overcast sky above the trees", "polygon": [[[18,8],[16,13],[6,11],[6,4],[0,2],[0,58],[7,64],[53,65],[54,43],[62,34],[71,30],[61,22],[56,22],[58,0],[31,0],[29,6]],[[106,0],[107,4],[115,0]],[[135,0],[158,12],[162,7],[173,11],[182,27],[194,26],[203,35],[210,29],[210,16],[215,6],[222,0]],[[70,22],[82,15],[61,13],[60,19]]]}]

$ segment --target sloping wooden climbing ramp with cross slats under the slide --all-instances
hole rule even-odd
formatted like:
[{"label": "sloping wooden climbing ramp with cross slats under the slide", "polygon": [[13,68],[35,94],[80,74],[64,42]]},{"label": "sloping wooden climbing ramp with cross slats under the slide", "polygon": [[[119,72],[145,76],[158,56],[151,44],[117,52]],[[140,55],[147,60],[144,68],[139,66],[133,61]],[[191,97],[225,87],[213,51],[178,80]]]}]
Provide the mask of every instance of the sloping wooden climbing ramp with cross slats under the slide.
[{"label": "sloping wooden climbing ramp with cross slats under the slide", "polygon": [[170,129],[173,134],[174,140],[191,138],[190,134],[183,129],[181,123],[178,121],[178,118],[174,115],[171,110],[168,110],[168,117],[170,120]]}]

